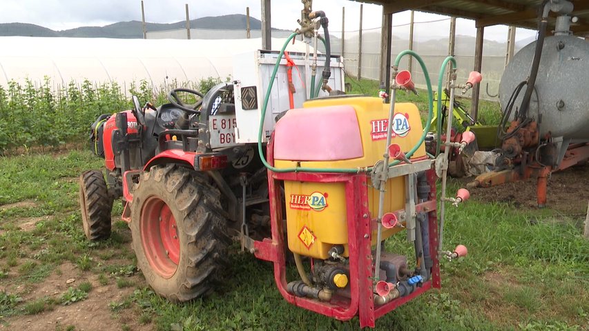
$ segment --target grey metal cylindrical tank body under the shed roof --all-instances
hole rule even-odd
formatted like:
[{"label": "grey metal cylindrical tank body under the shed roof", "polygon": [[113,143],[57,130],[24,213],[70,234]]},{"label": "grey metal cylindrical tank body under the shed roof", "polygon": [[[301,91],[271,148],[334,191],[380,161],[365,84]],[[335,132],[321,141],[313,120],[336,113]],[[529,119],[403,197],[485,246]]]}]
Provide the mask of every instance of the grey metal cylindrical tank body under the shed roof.
[{"label": "grey metal cylindrical tank body under the shed roof", "polygon": [[[509,63],[499,86],[501,109],[505,111],[516,86],[530,74],[536,42],[520,50]],[[540,123],[541,137],[589,140],[589,42],[572,36],[544,39],[540,67],[532,93],[528,117]],[[525,88],[514,104],[521,105]],[[541,117],[539,116],[541,114]]]}]

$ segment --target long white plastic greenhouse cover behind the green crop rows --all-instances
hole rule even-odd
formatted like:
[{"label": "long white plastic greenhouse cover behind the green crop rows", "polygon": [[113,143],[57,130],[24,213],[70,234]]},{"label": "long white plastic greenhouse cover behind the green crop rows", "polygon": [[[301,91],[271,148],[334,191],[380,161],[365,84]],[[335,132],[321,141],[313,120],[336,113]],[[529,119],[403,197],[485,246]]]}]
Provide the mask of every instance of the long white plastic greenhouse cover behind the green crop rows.
[{"label": "long white plastic greenhouse cover behind the green crop rows", "polygon": [[[284,39],[272,39],[280,48]],[[225,81],[233,72],[233,56],[260,49],[261,39],[106,39],[0,37],[0,86],[26,79],[42,82],[49,77],[52,88],[81,83],[117,82],[130,86],[145,79],[152,86],[176,80],[198,82],[209,77]],[[296,41],[287,50],[305,52]]]}]

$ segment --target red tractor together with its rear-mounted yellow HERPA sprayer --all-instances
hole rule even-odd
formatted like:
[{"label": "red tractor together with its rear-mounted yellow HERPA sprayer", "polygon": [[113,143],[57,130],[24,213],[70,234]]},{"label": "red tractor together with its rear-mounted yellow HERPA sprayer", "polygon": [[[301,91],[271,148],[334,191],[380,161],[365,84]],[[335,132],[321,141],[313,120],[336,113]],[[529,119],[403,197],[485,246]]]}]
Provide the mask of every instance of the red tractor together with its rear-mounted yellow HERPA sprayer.
[{"label": "red tractor together with its rear-mounted yellow HERPA sprayer", "polygon": [[[290,303],[340,320],[359,316],[362,327],[374,326],[378,317],[440,287],[438,257],[466,254],[462,245],[441,248],[436,179],[445,178],[448,155],[428,156],[429,124],[422,128],[413,104],[395,103],[396,90],[412,86],[406,72],[399,73],[407,78],[397,79],[388,104],[330,97],[339,94],[343,71],[329,47],[312,68],[305,68],[309,54],[282,59],[296,35],[316,37],[316,21],[329,46],[325,13],[306,5],[303,14],[302,28],[280,53],[255,52],[250,67],[244,61],[252,57],[237,59],[242,64],[233,83],[206,95],[175,89],[170,103],[158,108],[133,97],[133,110],[99,117],[92,137],[106,180],[99,170],[81,174],[84,232],[90,240],[108,237],[113,200],[122,199],[137,266],[157,294],[175,302],[209,294],[236,240],[273,263],[278,290]],[[325,63],[317,86],[316,61]],[[276,62],[273,71],[270,62]],[[291,78],[293,66],[305,70],[304,79]],[[181,93],[199,101],[186,104]],[[430,107],[425,123],[431,118]],[[468,142],[445,146],[462,150]],[[441,195],[442,206],[468,198],[465,190],[455,198]],[[414,257],[383,250],[385,239],[399,234]],[[287,279],[288,254],[295,279]]]}]

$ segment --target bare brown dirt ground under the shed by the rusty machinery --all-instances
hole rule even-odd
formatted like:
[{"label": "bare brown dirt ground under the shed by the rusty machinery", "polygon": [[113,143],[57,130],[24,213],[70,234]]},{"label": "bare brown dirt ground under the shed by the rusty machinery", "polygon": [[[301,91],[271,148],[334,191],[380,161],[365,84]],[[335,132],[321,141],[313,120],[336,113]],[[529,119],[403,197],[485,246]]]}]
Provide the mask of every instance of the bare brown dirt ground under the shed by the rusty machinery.
[{"label": "bare brown dirt ground under the shed by the rusty machinery", "polygon": [[[468,183],[473,179],[469,177],[461,181]],[[506,202],[516,208],[537,209],[535,178],[492,188],[473,188],[470,193],[478,201]],[[589,201],[589,162],[552,173],[548,179],[547,198],[547,207],[563,215],[585,215]]]}]

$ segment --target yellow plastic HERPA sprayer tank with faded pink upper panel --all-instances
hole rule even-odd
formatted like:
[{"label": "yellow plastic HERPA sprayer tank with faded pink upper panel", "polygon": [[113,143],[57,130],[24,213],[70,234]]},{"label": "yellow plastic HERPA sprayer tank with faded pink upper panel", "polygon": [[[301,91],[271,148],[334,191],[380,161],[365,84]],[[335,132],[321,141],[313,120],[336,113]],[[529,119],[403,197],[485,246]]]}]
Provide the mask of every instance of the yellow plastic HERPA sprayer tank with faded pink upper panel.
[{"label": "yellow plastic HERPA sprayer tank with faded pink upper panel", "polygon": [[[276,168],[367,168],[383,159],[387,141],[389,105],[374,97],[338,97],[307,101],[289,110],[276,124]],[[396,103],[392,143],[404,152],[423,133],[413,103]],[[425,157],[422,144],[412,158]],[[378,191],[369,186],[370,219],[378,216]],[[405,179],[389,179],[385,212],[405,208]],[[347,205],[344,183],[284,181],[287,232],[292,252],[316,259],[329,258],[334,245],[343,245],[348,257]],[[383,231],[383,239],[400,228]],[[376,238],[376,235],[372,236]],[[373,243],[374,244],[374,243]]]}]

